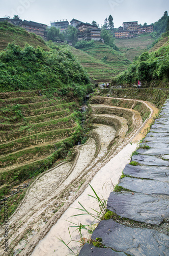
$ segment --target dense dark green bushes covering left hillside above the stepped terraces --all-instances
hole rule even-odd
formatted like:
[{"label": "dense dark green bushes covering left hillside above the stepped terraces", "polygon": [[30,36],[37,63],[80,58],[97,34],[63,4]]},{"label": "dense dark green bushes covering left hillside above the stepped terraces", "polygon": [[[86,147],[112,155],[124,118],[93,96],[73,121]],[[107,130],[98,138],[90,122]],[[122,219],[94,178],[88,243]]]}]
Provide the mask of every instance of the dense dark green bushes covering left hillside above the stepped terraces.
[{"label": "dense dark green bushes covering left hillside above the stepped terraces", "polygon": [[[0,54],[0,89],[14,90],[60,88],[62,95],[72,87],[73,93],[85,96],[89,78],[79,62],[68,49],[43,51],[26,45],[24,49],[9,44]],[[81,85],[81,87],[80,87]],[[82,93],[83,91],[83,93]]]}]

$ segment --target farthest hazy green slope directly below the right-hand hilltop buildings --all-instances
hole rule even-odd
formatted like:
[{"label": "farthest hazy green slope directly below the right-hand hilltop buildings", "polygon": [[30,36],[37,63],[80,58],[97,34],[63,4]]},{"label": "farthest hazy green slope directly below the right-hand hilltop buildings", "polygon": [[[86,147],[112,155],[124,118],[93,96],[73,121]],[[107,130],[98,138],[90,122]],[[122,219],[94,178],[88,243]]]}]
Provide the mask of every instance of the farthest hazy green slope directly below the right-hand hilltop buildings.
[{"label": "farthest hazy green slope directly below the right-hand hilltop buildings", "polygon": [[131,61],[142,54],[148,46],[154,42],[149,34],[138,35],[130,39],[115,39],[115,45],[125,54],[125,57]]}]

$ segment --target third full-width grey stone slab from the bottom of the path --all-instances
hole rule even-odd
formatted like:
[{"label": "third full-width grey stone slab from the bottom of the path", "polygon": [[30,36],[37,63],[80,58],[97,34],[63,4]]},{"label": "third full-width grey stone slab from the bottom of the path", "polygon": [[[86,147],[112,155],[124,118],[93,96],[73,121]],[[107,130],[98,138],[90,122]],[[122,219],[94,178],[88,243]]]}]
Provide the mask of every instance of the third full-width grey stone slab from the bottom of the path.
[{"label": "third full-width grey stone slab from the bottom of the path", "polygon": [[119,186],[143,194],[169,195],[169,183],[157,180],[124,177],[120,179]]}]

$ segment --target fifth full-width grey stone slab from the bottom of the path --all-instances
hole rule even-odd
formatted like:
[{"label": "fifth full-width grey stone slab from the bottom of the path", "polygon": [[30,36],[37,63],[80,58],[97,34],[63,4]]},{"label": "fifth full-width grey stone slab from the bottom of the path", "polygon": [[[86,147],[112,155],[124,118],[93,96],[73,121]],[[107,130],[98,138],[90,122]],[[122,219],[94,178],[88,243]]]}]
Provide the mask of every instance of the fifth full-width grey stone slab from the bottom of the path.
[{"label": "fifth full-width grey stone slab from the bottom of the path", "polygon": [[135,162],[138,162],[140,164],[145,164],[145,165],[169,166],[169,161],[167,161],[167,160],[162,160],[157,157],[144,156],[144,155],[140,155],[140,154],[132,156],[131,161],[135,161]]}]

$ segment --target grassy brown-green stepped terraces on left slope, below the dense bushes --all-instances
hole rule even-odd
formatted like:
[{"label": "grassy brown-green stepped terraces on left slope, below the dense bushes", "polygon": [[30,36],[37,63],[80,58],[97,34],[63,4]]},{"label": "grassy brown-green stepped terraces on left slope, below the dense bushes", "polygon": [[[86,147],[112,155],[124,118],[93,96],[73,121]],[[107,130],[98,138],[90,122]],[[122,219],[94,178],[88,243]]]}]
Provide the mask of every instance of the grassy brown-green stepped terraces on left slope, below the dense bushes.
[{"label": "grassy brown-green stepped terraces on left slope, below the dense bushes", "polygon": [[79,125],[74,114],[77,104],[57,98],[50,100],[45,91],[42,94],[40,91],[0,94],[3,198],[19,192],[20,183],[27,186],[27,179],[54,164],[78,141]]}]

